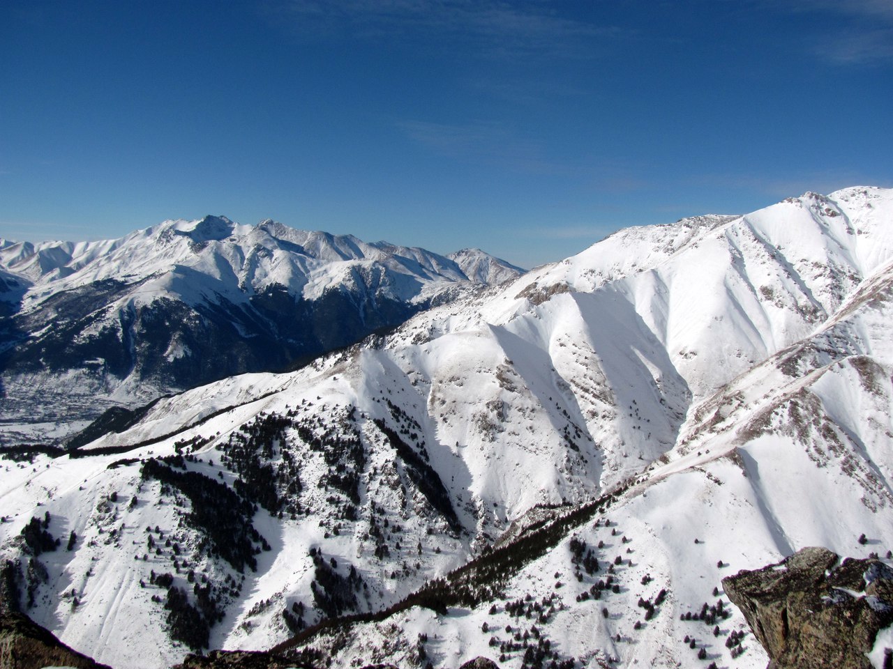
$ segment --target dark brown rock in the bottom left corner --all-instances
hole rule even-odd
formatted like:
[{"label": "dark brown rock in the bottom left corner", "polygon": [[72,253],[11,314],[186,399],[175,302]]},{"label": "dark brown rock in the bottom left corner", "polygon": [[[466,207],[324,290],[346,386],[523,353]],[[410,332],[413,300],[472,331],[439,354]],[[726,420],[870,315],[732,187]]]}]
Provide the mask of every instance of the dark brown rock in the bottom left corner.
[{"label": "dark brown rock in the bottom left corner", "polygon": [[27,615],[0,613],[0,666],[4,669],[41,669],[45,666],[110,669],[65,646]]}]

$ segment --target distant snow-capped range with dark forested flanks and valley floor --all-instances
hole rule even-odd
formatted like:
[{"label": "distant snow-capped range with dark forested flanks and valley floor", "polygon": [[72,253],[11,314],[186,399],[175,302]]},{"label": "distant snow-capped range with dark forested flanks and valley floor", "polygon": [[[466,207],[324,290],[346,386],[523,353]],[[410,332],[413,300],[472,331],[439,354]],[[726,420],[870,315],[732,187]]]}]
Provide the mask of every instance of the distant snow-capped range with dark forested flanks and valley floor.
[{"label": "distant snow-capped range with dark forested flanks and valley floor", "polygon": [[521,273],[479,250],[457,257],[212,216],[102,242],[0,240],[6,441],[282,370]]}]

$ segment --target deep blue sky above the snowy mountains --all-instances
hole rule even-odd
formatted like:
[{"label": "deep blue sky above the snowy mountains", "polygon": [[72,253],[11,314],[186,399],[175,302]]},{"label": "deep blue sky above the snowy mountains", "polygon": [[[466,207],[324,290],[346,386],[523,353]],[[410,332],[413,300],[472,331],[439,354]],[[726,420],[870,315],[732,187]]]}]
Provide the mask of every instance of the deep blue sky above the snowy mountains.
[{"label": "deep blue sky above the snowy mountains", "polygon": [[0,236],[479,246],[893,186],[889,0],[0,4]]}]

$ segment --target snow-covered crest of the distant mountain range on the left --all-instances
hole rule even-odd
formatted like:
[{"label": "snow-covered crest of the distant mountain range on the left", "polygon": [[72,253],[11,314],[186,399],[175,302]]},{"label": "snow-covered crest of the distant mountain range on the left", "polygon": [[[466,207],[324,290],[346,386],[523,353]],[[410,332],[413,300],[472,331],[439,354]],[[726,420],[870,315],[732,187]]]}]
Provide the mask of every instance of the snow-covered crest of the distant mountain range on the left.
[{"label": "snow-covered crest of the distant mountain range on the left", "polygon": [[[477,257],[479,262],[499,268],[501,279],[522,271],[484,252]],[[221,281],[236,279],[255,291],[279,283],[305,288],[311,296],[315,286],[308,281],[310,275],[318,275],[330,265],[363,261],[384,264],[391,273],[410,279],[395,289],[403,300],[420,299],[430,283],[489,283],[482,280],[486,274],[468,277],[453,260],[423,249],[387,242],[367,244],[353,235],[298,230],[270,219],[247,226],[226,217],[206,216],[167,220],[100,242],[3,240],[0,244],[0,268],[27,277],[36,289],[42,289],[29,301],[109,278],[132,282],[163,276],[178,267],[197,268]],[[337,276],[344,270],[334,268],[332,272],[337,284]]]}]

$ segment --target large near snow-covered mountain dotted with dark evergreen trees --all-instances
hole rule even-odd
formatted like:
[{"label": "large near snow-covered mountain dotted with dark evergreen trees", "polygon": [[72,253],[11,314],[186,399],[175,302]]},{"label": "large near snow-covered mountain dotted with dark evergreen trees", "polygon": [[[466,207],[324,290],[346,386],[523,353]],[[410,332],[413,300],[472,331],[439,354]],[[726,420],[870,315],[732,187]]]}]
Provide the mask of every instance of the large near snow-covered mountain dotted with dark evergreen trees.
[{"label": "large near snow-covered mountain dotted with dark evergreen trees", "polygon": [[763,667],[723,576],[893,548],[890,298],[893,190],[623,230],[295,372],[160,400],[79,457],[8,462],[5,574],[113,666],[394,606],[296,648]]}]

